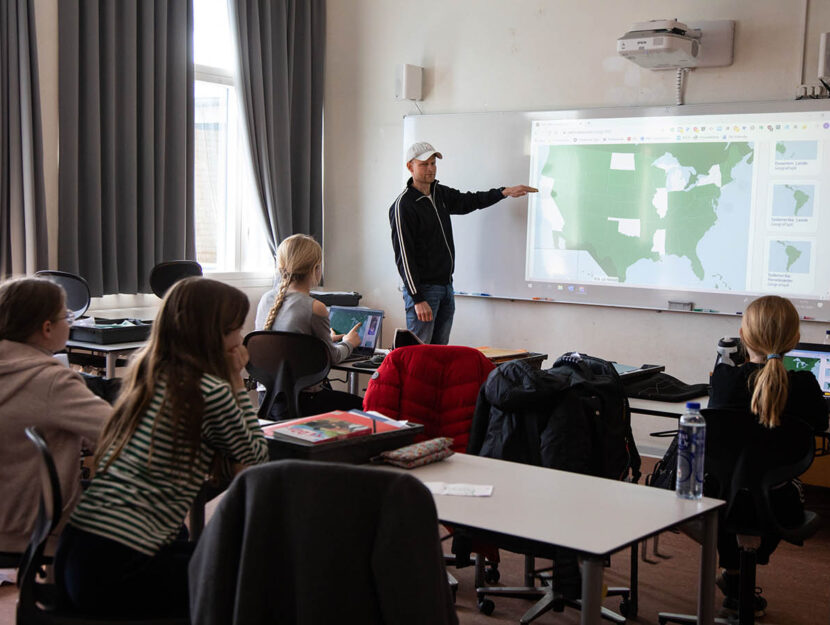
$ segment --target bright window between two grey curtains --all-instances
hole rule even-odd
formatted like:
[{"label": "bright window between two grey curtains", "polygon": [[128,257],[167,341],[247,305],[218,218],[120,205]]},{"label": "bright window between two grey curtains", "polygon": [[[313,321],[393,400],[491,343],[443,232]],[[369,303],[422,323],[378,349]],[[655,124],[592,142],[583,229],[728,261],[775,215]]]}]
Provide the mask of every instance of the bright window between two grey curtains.
[{"label": "bright window between two grey curtains", "polygon": [[206,271],[271,272],[234,87],[227,0],[194,0],[196,260]]}]

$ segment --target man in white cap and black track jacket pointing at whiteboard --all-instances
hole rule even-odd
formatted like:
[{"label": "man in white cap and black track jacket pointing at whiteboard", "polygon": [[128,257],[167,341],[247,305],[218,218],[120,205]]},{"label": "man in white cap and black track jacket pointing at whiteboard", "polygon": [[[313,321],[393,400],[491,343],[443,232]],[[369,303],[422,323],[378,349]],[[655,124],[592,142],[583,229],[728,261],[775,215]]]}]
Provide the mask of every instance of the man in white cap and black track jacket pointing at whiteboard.
[{"label": "man in white cap and black track jacket pointing at whiteboard", "polygon": [[389,208],[389,224],[395,263],[403,280],[406,327],[424,343],[446,345],[455,314],[455,243],[450,215],[466,215],[537,189],[516,185],[462,193],[438,184],[438,158],[444,157],[424,141],[413,143],[406,151],[406,168],[412,177]]}]

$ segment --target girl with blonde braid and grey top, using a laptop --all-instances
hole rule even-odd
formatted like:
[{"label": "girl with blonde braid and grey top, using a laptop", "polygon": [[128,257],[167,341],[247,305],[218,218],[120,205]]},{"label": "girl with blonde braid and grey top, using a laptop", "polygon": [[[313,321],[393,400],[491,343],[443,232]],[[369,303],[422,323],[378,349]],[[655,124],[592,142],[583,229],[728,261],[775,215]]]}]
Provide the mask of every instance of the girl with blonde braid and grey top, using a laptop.
[{"label": "girl with blonde braid and grey top, using a laptop", "polygon": [[[257,306],[255,328],[311,334],[321,339],[329,349],[332,364],[348,358],[360,345],[358,329],[347,334],[335,334],[329,325],[325,304],[311,297],[311,289],[320,283],[323,271],[323,250],[320,244],[305,234],[295,234],[283,240],[277,248],[277,270],[280,286],[262,296]],[[260,391],[260,400],[265,393]],[[299,410],[302,415],[314,415],[330,410],[363,408],[357,395],[332,390],[323,382],[300,393]],[[271,418],[285,418],[285,406],[274,403]]]}]

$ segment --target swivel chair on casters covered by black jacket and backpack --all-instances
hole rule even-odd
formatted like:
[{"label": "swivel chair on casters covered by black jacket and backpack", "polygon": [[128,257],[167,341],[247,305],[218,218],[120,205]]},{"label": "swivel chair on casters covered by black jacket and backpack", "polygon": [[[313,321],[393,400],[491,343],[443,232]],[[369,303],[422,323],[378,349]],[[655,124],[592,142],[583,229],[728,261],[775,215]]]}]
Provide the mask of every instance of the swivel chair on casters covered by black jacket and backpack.
[{"label": "swivel chair on casters covered by black jacket and backpack", "polygon": [[[590,406],[590,411],[583,406]],[[610,427],[612,420],[618,424],[614,428]],[[576,364],[573,359],[560,359],[553,368],[541,371],[527,361],[517,360],[500,364],[482,389],[467,452],[636,482],[639,454],[629,424],[624,391],[609,363],[583,355]],[[606,429],[615,433],[613,445],[599,434]],[[569,455],[566,447],[578,452]],[[612,451],[616,453],[609,453]],[[479,611],[492,614],[495,603],[490,597],[535,600],[520,619],[524,624],[549,610],[581,609],[582,602],[577,598],[581,575],[574,551],[557,548],[533,553],[525,551],[526,546],[511,545],[509,540],[499,546],[524,554],[524,586],[478,587]],[[554,568],[538,569],[537,557],[553,559]],[[601,609],[602,618],[615,623],[637,615],[636,544],[629,559],[631,587],[608,588],[606,593],[622,597],[620,614]]]}]

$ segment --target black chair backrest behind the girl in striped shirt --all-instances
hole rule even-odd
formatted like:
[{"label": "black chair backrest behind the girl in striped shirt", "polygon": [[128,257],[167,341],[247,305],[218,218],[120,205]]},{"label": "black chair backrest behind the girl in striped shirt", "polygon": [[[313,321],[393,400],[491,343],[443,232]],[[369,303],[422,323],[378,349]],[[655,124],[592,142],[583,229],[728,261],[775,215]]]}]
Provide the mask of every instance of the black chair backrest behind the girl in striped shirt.
[{"label": "black chair backrest behind the girl in striped shirt", "polygon": [[52,454],[46,446],[46,441],[34,427],[26,428],[26,436],[32,441],[37,449],[40,458],[40,504],[38,506],[35,528],[29,540],[29,546],[23,554],[20,562],[20,571],[17,578],[17,585],[20,588],[20,596],[17,603],[17,622],[31,622],[26,618],[27,614],[39,611],[38,602],[42,598],[36,598],[35,577],[43,564],[43,550],[46,546],[46,539],[60,522],[63,499],[61,497],[60,481],[58,472],[55,469],[55,462]]}]

